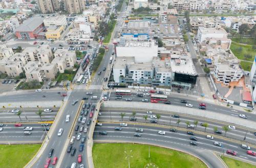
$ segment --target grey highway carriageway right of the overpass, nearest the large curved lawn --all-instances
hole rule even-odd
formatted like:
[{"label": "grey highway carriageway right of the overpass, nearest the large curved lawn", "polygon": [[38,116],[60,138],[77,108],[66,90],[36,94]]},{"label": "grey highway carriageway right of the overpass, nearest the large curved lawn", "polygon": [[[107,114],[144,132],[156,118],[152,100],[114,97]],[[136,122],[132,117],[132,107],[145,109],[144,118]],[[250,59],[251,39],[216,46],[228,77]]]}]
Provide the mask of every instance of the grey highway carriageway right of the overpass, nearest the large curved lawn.
[{"label": "grey highway carriageway right of the overpass, nearest the large curved lawn", "polygon": [[[225,141],[224,139],[214,137],[214,139],[207,139],[206,134],[195,133],[197,137],[198,146],[191,146],[189,143],[191,140],[186,131],[178,130],[178,132],[170,132],[168,127],[159,126],[147,126],[144,124],[128,124],[127,127],[123,127],[121,131],[115,131],[114,127],[118,127],[118,123],[103,123],[101,127],[96,127],[94,131],[94,139],[97,142],[101,141],[113,141],[113,142],[130,142],[130,143],[146,143],[157,146],[164,146],[169,148],[175,148],[182,151],[190,152],[203,159],[210,167],[220,167],[220,162],[215,155],[212,155],[212,151],[223,153],[227,149],[238,152],[237,157],[240,159],[246,159],[247,161],[255,162],[255,157],[247,155],[246,149],[240,147],[241,144],[237,144],[231,141]],[[141,137],[134,137],[136,128],[142,128],[143,132]],[[99,135],[99,131],[107,131],[107,135]],[[165,131],[165,135],[158,134],[158,131]],[[214,146],[214,142],[220,142],[222,147]],[[255,150],[254,148],[252,150]]]}]

